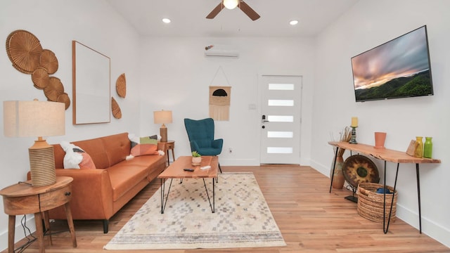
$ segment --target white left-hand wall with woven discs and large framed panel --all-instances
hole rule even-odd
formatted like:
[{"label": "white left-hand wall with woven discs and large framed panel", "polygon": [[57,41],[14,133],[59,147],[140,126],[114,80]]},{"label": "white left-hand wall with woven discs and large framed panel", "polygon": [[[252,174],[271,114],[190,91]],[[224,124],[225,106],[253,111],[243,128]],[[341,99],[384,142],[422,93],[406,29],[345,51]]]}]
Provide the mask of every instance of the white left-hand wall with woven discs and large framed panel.
[{"label": "white left-hand wall with woven discs and large framed panel", "polygon": [[[34,34],[43,48],[56,54],[59,68],[53,74],[63,82],[65,92],[72,98],[72,40],[109,56],[111,59],[111,91],[122,109],[122,119],[111,116],[108,124],[72,125],[72,105],[65,112],[65,136],[48,138],[49,143],[77,141],[96,136],[139,131],[139,37],[134,29],[115,13],[105,1],[89,0],[2,0],[0,1],[0,39],[6,41],[14,30]],[[127,77],[127,98],[115,92],[115,80],[122,73]],[[35,89],[30,74],[23,74],[11,65],[4,47],[0,50],[0,101],[46,100]],[[3,102],[0,105],[3,115]],[[30,168],[28,150],[35,138],[6,138],[3,135],[3,116],[0,124],[0,188],[26,179]],[[0,204],[0,249],[8,247],[8,216]],[[32,216],[30,216],[31,218]],[[16,219],[20,224],[20,216]],[[20,226],[20,225],[18,225]],[[28,219],[27,226],[34,228]],[[16,240],[23,238],[23,230],[16,228]]]}]

